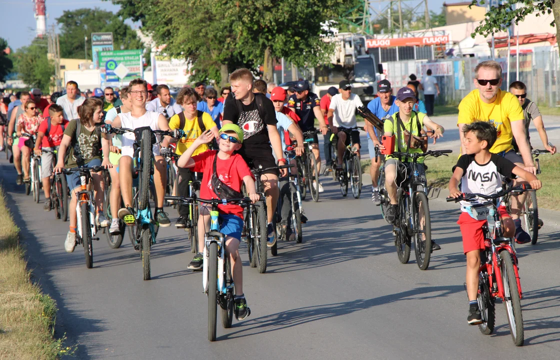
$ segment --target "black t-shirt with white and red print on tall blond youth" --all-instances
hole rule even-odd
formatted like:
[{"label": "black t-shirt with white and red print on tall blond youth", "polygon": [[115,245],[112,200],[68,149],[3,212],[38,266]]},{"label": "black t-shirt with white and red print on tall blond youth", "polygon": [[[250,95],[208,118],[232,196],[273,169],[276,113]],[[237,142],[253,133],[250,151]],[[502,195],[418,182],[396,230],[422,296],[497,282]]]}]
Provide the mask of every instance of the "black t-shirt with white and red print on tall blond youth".
[{"label": "black t-shirt with white and red print on tall blond youth", "polygon": [[[263,100],[263,116],[260,118],[259,110],[256,104],[256,96],[262,96]],[[270,99],[264,95],[255,95],[255,99],[249,105],[243,104],[240,100],[231,99],[223,105],[223,120],[230,120],[232,123],[239,125],[243,130],[243,146],[251,146],[253,144],[268,144],[268,128],[267,125],[276,127],[276,111]],[[241,113],[237,109],[237,104],[241,105]]]}]

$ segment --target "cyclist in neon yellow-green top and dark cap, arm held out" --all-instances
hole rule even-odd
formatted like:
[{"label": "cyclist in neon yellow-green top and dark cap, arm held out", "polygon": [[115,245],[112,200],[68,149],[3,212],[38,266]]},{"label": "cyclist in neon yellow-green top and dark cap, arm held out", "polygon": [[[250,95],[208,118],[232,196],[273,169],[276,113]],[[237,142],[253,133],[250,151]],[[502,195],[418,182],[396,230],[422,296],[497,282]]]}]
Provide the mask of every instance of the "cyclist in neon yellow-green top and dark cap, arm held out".
[{"label": "cyclist in neon yellow-green top and dark cap, arm held out", "polygon": [[[419,146],[411,147],[411,144],[413,142],[413,135],[419,136],[424,125],[434,131],[433,135],[431,135],[433,138],[438,139],[442,137],[444,133],[444,128],[434,123],[426,114],[412,111],[415,102],[416,97],[414,96],[414,92],[408,87],[401,88],[396,94],[396,103],[399,106],[399,111],[391,116],[390,119],[386,120],[384,124],[385,136],[391,137],[395,134],[396,141],[394,151],[422,153],[423,150]],[[408,133],[408,139],[405,132]],[[408,163],[403,164],[398,158],[391,155],[387,156],[387,160],[385,161],[385,188],[389,194],[391,204],[385,212],[385,220],[390,224],[394,223],[398,216],[396,189],[399,186],[399,181],[402,181],[400,179],[408,175],[403,174],[404,172],[410,172],[411,170],[413,169],[410,169]],[[418,160],[416,170],[425,181],[426,170],[423,166],[423,158]],[[441,247],[432,240],[432,251],[440,249]]]}]

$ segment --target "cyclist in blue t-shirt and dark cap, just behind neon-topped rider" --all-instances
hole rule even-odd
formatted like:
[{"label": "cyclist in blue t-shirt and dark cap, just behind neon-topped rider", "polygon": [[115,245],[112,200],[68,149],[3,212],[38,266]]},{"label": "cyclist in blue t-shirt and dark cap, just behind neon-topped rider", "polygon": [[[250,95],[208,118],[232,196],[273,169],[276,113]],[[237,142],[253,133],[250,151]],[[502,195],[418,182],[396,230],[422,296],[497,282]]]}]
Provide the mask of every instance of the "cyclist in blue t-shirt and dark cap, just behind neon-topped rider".
[{"label": "cyclist in blue t-shirt and dark cap, just behind neon-topped rider", "polygon": [[[396,105],[396,97],[391,95],[393,90],[391,89],[391,83],[389,80],[381,80],[377,83],[377,97],[367,104],[367,108],[381,120],[385,120],[393,116],[394,113],[399,111],[399,106]],[[366,132],[367,132],[367,149],[370,153],[371,166],[371,185],[373,192],[371,194],[371,201],[374,204],[381,204],[381,194],[379,193],[379,175],[382,163],[382,155],[377,156],[377,161],[375,161],[375,146],[379,146],[380,149],[384,147],[379,142],[379,137],[382,134],[377,134],[377,130],[366,121]]]}]

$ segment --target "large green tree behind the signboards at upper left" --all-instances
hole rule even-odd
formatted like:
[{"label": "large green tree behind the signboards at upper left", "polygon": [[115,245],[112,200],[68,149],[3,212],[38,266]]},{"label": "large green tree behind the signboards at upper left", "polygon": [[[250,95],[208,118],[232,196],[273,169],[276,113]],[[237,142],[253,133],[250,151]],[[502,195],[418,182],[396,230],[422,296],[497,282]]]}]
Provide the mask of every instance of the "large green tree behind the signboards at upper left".
[{"label": "large green tree behind the signboards at upper left", "polygon": [[[99,8],[67,10],[57,18],[57,22],[60,25],[60,56],[63,58],[81,59],[85,56],[85,47],[88,57],[91,57],[92,32],[113,32],[115,50],[121,47],[125,50],[143,47],[136,31],[125,24],[123,18],[110,11]],[[85,36],[88,38],[86,46]]]}]

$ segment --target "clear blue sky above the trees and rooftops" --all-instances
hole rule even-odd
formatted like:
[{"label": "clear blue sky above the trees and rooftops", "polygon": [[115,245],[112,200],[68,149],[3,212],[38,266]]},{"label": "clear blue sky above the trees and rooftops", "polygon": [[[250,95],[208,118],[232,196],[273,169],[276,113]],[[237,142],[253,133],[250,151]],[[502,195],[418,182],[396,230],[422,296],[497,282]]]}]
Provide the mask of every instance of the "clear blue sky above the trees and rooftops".
[{"label": "clear blue sky above the trees and rooftops", "polygon": [[[403,4],[412,5],[419,1],[405,1]],[[447,2],[461,2],[461,0],[448,0]],[[430,10],[439,11],[443,3],[444,0],[428,0],[428,7]],[[386,4],[381,3],[380,5],[384,7]],[[46,19],[47,28],[55,22],[57,17],[62,15],[64,10],[76,10],[84,7],[99,7],[113,12],[119,10],[119,6],[101,0],[46,0],[45,6],[48,15]],[[0,0],[0,8],[2,9],[0,37],[6,39],[12,49],[30,44],[35,37],[35,17],[33,16],[31,0]]]}]

